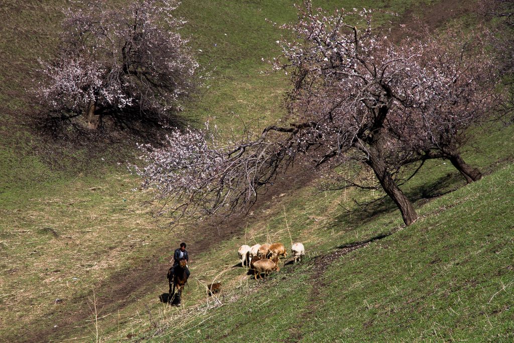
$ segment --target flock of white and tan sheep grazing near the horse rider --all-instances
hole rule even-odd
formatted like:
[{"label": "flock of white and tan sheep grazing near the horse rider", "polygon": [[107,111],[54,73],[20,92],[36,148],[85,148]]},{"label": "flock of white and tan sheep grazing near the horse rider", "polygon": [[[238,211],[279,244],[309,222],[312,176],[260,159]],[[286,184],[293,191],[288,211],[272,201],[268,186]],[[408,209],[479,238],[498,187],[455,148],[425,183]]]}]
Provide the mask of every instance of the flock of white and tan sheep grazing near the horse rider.
[{"label": "flock of white and tan sheep grazing near the horse rider", "polygon": [[[255,280],[259,276],[262,278],[268,276],[269,273],[280,270],[279,257],[287,257],[287,251],[282,243],[273,244],[255,244],[253,246],[242,245],[237,251],[241,260],[241,265],[246,263],[251,270],[253,270],[253,277]],[[302,243],[295,243],[291,247],[291,254],[295,259],[295,263],[301,262],[302,256],[305,255],[305,248]]]}]

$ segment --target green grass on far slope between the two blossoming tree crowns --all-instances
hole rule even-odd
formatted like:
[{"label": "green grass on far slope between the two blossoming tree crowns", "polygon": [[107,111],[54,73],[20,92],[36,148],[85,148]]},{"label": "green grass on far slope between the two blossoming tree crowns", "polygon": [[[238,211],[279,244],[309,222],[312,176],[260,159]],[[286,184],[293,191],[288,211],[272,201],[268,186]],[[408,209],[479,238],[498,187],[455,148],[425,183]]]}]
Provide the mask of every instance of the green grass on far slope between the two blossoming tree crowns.
[{"label": "green grass on far slope between the two blossoming tree crowns", "polygon": [[[224,130],[236,132],[243,123],[262,128],[285,114],[282,107],[286,76],[271,73],[265,61],[280,55],[277,40],[287,32],[277,26],[297,18],[292,1],[203,1],[184,2],[177,13],[188,20],[185,34],[198,53],[200,65],[212,73],[208,88],[197,103],[188,106],[186,116],[203,121],[214,120]],[[387,5],[369,1],[315,1],[316,7],[378,8],[403,13],[419,1],[396,0]],[[394,17],[377,13],[377,25],[389,25]],[[199,51],[201,50],[201,51]],[[255,123],[255,121],[258,121]],[[259,125],[261,125],[259,127]],[[260,131],[260,130],[258,130]]]}]

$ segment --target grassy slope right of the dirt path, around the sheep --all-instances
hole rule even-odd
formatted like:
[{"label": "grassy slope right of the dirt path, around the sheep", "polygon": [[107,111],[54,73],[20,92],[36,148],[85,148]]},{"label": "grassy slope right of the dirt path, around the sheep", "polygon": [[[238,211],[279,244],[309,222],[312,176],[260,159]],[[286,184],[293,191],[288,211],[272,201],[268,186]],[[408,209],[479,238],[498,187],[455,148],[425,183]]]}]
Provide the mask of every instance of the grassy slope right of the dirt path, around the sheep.
[{"label": "grassy slope right of the dirt path, around the sheep", "polygon": [[[485,168],[511,158],[505,143],[482,159],[499,136],[468,151],[470,163]],[[163,283],[117,317],[102,318],[100,335],[107,341],[315,341],[320,335],[327,341],[508,341],[514,169],[502,166],[462,187],[452,167],[432,161],[404,188],[417,198],[420,214],[408,228],[378,192],[285,191],[244,232],[194,256],[182,309],[159,301],[168,291]],[[304,242],[307,257],[297,265],[288,259],[280,273],[254,281],[236,251],[267,241]],[[205,294],[211,281],[223,284],[216,298]]]}]

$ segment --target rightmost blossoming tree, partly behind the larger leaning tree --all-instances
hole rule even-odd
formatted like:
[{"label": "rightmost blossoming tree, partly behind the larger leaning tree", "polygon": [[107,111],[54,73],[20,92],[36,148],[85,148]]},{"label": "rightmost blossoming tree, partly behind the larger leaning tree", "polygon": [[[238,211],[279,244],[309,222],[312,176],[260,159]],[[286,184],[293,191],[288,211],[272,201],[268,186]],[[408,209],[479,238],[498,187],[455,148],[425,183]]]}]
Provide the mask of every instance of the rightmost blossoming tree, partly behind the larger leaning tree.
[{"label": "rightmost blossoming tree, partly behind the larger leaning tree", "polygon": [[502,100],[486,35],[483,31],[470,38],[449,31],[444,40],[430,39],[424,44],[406,76],[412,82],[411,94],[399,98],[407,112],[392,118],[389,128],[402,149],[411,153],[401,165],[444,158],[468,183],[482,177],[465,163],[460,150],[471,138],[468,128],[495,119],[494,108]]}]

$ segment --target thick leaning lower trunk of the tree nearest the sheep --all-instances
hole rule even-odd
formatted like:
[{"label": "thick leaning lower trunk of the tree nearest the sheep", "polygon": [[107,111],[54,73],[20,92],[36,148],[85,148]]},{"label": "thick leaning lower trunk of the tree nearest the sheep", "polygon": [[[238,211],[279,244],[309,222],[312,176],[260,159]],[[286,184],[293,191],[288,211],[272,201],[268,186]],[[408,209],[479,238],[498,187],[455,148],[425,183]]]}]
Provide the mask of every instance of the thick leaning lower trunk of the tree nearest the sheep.
[{"label": "thick leaning lower trunk of the tree nearest the sheep", "polygon": [[380,157],[370,153],[368,165],[375,172],[375,175],[377,176],[383,190],[386,191],[386,193],[393,199],[396,206],[398,206],[400,209],[401,216],[405,225],[411,225],[414,223],[418,218],[416,210],[414,209],[414,206],[412,206],[412,203],[409,201],[407,196],[403,194],[398,185],[396,185],[396,182],[394,182],[391,174],[386,168],[384,161]]}]

